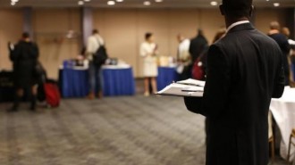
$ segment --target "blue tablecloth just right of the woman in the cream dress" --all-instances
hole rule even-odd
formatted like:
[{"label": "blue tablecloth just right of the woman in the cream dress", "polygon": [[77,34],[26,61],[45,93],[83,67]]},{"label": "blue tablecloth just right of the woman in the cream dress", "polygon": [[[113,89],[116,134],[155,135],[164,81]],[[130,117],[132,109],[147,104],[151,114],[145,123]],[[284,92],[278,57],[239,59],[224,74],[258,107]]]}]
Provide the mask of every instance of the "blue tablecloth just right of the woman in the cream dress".
[{"label": "blue tablecloth just right of the woman in the cream dress", "polygon": [[170,85],[173,81],[177,81],[179,75],[175,68],[172,67],[158,67],[158,76],[156,78],[157,90],[162,90],[164,87]]}]

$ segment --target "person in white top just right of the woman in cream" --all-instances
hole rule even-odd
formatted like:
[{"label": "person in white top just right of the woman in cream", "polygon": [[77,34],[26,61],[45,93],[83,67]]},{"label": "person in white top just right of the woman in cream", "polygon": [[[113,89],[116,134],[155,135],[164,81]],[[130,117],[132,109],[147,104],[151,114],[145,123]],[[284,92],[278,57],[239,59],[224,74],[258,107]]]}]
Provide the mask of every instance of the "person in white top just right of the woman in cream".
[{"label": "person in white top just right of the woman in cream", "polygon": [[179,73],[181,75],[180,80],[184,80],[191,77],[190,72],[190,39],[183,37],[181,34],[177,35],[177,41],[179,43],[178,50],[177,50],[177,61],[179,62]]}]

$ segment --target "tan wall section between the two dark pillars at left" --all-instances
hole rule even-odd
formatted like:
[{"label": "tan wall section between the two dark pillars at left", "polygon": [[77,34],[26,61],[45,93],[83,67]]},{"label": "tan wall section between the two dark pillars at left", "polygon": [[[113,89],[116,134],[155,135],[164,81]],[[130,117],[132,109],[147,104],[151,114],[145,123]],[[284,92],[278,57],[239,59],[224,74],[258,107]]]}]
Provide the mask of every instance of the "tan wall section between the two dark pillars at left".
[{"label": "tan wall section between the two dark pillars at left", "polygon": [[[40,49],[40,62],[47,70],[49,78],[58,77],[58,68],[65,59],[80,53],[80,10],[79,9],[35,9],[33,27],[35,39]],[[72,30],[77,36],[69,38]]]}]

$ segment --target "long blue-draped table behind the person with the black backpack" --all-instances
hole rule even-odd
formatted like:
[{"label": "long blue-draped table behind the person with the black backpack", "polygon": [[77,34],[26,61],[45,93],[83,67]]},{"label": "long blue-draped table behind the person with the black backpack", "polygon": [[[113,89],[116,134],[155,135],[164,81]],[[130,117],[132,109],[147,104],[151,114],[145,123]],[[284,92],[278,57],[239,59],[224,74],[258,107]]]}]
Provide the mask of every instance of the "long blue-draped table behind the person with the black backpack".
[{"label": "long blue-draped table behind the person with the black backpack", "polygon": [[[130,65],[102,67],[102,84],[105,96],[134,95],[135,82]],[[63,68],[59,71],[61,92],[64,98],[85,97],[89,94],[89,71],[85,68]]]}]

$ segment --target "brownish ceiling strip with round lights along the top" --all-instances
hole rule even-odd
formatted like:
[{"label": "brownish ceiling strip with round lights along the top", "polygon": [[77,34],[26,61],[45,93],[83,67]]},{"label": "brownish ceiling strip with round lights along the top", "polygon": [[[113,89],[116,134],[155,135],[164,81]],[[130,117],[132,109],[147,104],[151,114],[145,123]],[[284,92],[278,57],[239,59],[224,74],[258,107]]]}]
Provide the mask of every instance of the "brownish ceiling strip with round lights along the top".
[{"label": "brownish ceiling strip with round lights along the top", "polygon": [[[162,3],[156,3],[156,0],[124,0],[122,3],[108,5],[108,0],[90,0],[79,5],[80,0],[19,0],[15,5],[11,5],[12,0],[0,0],[0,7],[110,7],[110,8],[208,8],[212,6],[211,0],[163,0]],[[87,0],[81,0],[87,1]],[[144,5],[149,1],[150,5]],[[222,0],[215,0],[218,4]],[[257,7],[274,7],[274,3],[280,3],[280,7],[295,7],[295,0],[253,0]]]}]

